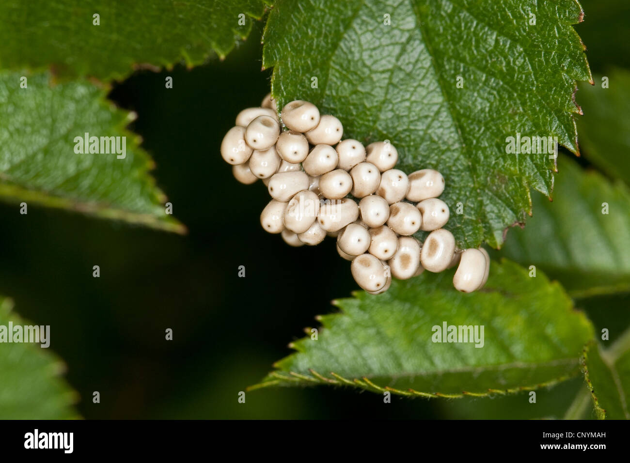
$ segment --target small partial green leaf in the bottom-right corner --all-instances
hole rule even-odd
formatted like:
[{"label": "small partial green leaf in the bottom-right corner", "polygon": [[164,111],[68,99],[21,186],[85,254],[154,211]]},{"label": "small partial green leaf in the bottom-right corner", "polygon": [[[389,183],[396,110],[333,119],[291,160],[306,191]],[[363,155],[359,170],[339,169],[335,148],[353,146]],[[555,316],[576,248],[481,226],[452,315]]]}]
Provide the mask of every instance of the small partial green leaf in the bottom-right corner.
[{"label": "small partial green leaf in the bottom-right corner", "polygon": [[608,349],[593,343],[583,357],[600,420],[630,420],[630,329]]}]

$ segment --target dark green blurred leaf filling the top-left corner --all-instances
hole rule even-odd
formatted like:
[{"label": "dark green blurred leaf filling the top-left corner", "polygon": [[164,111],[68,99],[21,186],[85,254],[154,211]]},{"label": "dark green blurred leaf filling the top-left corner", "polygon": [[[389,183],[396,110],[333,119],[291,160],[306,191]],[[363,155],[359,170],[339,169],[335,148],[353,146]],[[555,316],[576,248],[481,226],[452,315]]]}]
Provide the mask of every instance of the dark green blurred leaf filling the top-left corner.
[{"label": "dark green blurred leaf filling the top-left corner", "polygon": [[[0,3],[0,66],[123,79],[138,67],[225,57],[260,19],[265,0],[8,0]],[[100,25],[94,25],[99,14]],[[244,25],[239,25],[239,14]],[[242,22],[241,21],[241,22]]]}]

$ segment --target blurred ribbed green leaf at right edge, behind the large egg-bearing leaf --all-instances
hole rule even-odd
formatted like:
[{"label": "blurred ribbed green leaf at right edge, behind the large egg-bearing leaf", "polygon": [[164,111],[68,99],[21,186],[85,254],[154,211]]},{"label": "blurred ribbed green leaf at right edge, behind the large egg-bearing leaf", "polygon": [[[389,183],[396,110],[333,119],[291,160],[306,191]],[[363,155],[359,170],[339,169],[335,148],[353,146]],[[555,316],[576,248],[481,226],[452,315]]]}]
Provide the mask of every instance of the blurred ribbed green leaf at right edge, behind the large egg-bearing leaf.
[{"label": "blurred ribbed green leaf at right edge, behind the large egg-bearing leaf", "polygon": [[630,290],[630,190],[559,159],[553,202],[533,198],[534,217],[510,231],[501,255],[542,268],[573,297]]}]

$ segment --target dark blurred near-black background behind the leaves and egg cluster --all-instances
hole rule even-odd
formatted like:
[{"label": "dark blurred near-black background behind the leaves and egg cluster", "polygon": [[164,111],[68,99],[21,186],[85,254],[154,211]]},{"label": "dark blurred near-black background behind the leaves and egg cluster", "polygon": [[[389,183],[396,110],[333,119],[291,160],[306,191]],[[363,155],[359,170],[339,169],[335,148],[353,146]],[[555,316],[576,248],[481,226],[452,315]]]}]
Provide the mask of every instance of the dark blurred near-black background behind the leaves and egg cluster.
[{"label": "dark blurred near-black background behind the leaves and egg cluster", "polygon": [[[587,24],[577,28],[582,37]],[[0,294],[13,297],[22,316],[50,324],[51,350],[65,360],[67,380],[81,395],[79,413],[534,418],[541,409],[566,409],[581,379],[539,392],[537,411],[526,393],[457,401],[394,396],[384,404],[378,394],[328,387],[260,389],[238,403],[239,391],[290,353],[287,343],[317,326],[314,316],[333,310],[331,299],[357,289],[333,240],[294,249],[265,233],[264,186],[238,183],[219,155],[238,111],[259,105],[269,91],[259,38],[260,27],[224,62],[137,72],[110,94],[138,113],[130,129],[144,138],[157,183],[188,236],[37,207],[20,215],[15,205],[0,205]],[[173,89],[164,88],[166,76]],[[100,278],[92,277],[94,265]],[[238,277],[240,265],[245,278]],[[173,341],[165,340],[166,328]],[[93,391],[100,404],[92,403]]]}]

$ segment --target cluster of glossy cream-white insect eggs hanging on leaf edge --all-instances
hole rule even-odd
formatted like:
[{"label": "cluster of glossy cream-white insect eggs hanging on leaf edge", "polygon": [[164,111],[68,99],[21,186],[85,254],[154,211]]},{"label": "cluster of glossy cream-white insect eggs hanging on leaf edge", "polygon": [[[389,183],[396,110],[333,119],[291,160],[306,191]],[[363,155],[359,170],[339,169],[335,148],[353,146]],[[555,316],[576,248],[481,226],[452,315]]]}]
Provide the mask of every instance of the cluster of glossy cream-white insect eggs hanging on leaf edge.
[{"label": "cluster of glossy cream-white insect eggs hanging on leaf edge", "polygon": [[[285,130],[284,130],[285,129]],[[490,257],[483,249],[455,246],[442,228],[448,205],[438,197],[444,177],[433,169],[409,175],[394,169],[398,151],[387,140],[367,147],[341,140],[343,125],[317,106],[295,100],[280,111],[268,94],[260,107],[246,108],[225,135],[221,156],[236,180],[263,181],[272,200],[260,216],[263,228],[290,246],[314,246],[337,239],[341,257],[352,261],[357,284],[380,294],[391,278],[457,265],[453,284],[462,292],[488,279]],[[424,243],[413,237],[429,231]]]}]

